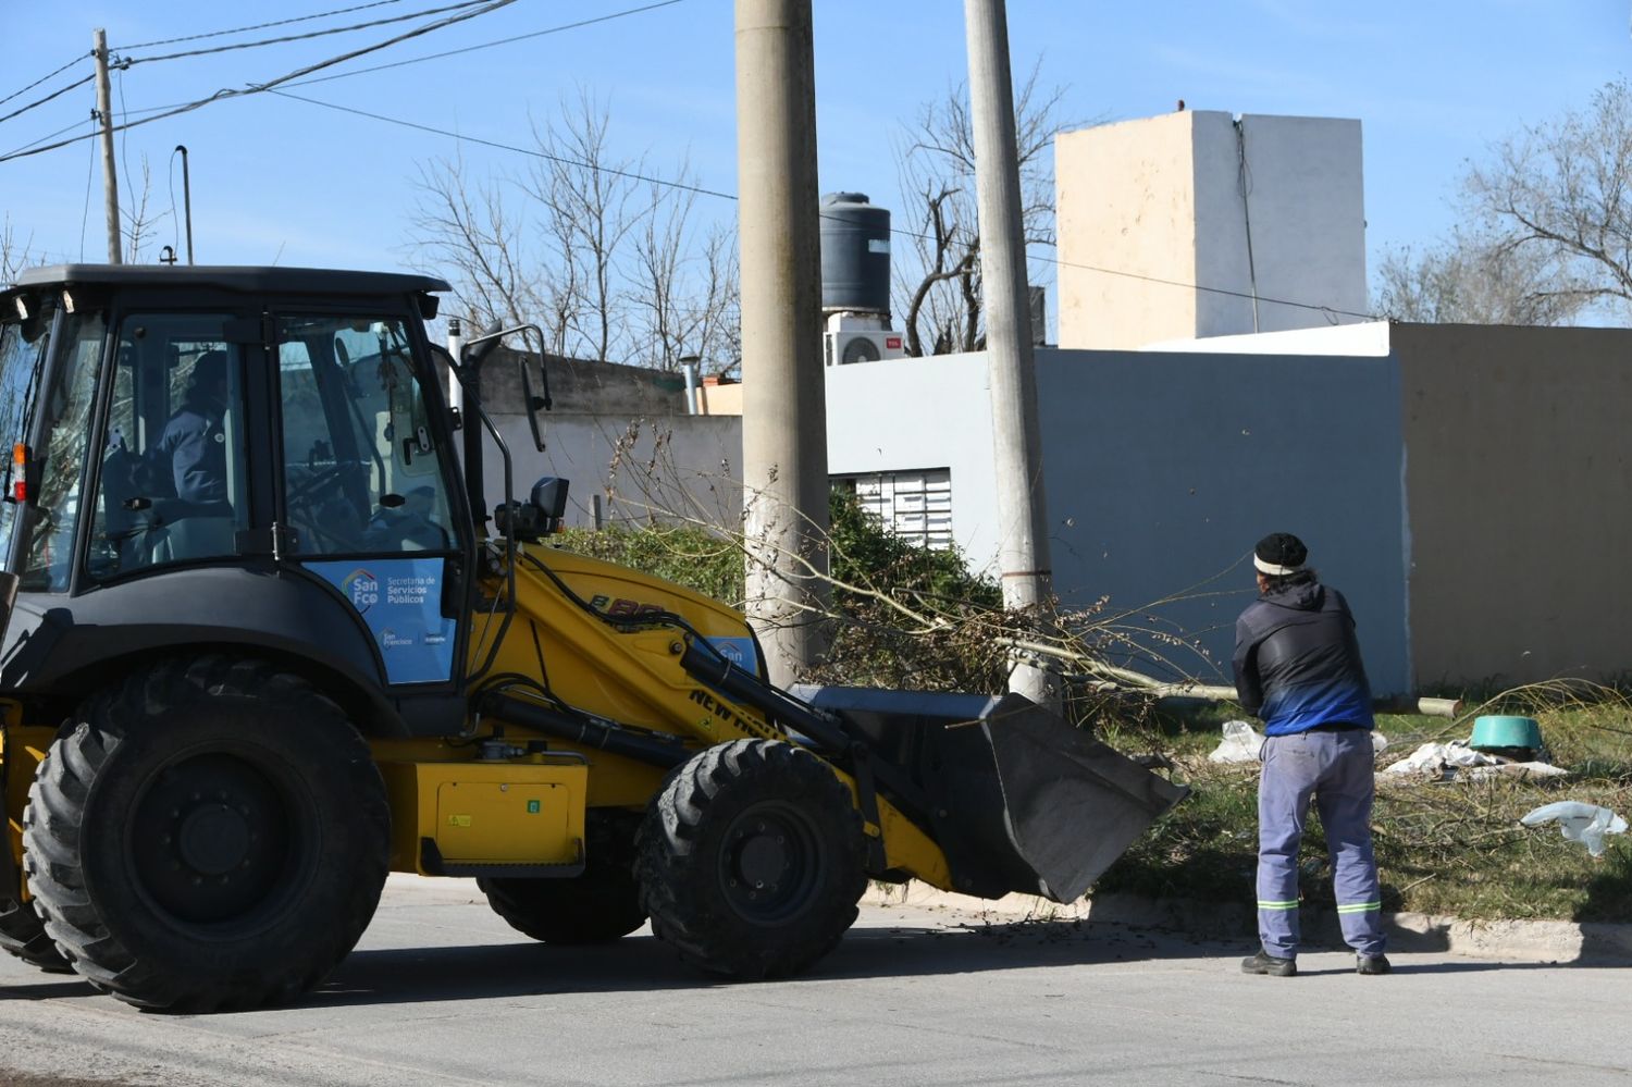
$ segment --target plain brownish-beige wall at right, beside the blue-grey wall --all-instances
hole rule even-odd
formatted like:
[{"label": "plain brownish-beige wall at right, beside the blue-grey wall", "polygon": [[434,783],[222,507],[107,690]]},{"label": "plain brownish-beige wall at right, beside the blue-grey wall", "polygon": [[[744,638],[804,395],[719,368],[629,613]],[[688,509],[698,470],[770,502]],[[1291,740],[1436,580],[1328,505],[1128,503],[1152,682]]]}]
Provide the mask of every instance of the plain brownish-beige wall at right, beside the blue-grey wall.
[{"label": "plain brownish-beige wall at right, beside the blue-grey wall", "polygon": [[1632,330],[1397,325],[1420,684],[1632,668]]}]

